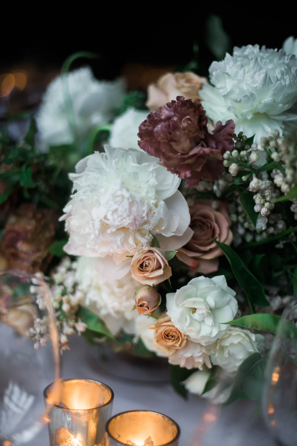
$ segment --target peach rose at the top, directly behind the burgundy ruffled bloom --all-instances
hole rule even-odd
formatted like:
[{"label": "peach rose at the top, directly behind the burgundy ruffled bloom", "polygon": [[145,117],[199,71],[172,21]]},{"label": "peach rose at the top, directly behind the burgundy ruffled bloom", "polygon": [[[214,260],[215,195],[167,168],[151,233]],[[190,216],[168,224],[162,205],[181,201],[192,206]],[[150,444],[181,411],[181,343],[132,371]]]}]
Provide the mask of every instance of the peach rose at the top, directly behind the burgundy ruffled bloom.
[{"label": "peach rose at the top, directly behind the burgundy ruffled bloom", "polygon": [[206,83],[207,78],[200,78],[191,71],[164,74],[157,83],[151,83],[148,86],[146,107],[155,111],[167,102],[174,100],[176,96],[183,96],[193,102],[201,102],[199,91]]}]

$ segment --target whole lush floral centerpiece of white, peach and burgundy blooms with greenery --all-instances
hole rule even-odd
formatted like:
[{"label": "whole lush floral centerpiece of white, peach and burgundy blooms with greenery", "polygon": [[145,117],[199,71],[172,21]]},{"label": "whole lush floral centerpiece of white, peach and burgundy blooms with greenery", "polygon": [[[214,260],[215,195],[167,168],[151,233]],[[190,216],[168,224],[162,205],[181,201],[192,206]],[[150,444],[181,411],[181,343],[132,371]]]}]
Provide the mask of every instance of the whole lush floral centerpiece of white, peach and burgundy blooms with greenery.
[{"label": "whole lush floral centerpiece of white, peach and burgundy blooms with greenery", "polygon": [[62,350],[83,333],[167,358],[183,396],[260,396],[297,292],[295,50],[234,48],[209,82],[162,76],[146,105],[63,74],[24,140],[3,129],[1,266],[49,276]]}]

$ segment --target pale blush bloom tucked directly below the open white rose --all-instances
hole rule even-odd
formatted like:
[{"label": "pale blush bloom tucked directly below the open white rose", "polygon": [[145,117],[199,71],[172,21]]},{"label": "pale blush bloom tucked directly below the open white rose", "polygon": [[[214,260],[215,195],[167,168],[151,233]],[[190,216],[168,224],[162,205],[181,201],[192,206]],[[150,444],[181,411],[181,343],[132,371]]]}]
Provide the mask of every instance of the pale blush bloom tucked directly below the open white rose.
[{"label": "pale blush bloom tucked directly below the open white rose", "polygon": [[212,367],[210,362],[210,350],[208,347],[196,342],[187,340],[186,345],[177,350],[173,355],[168,357],[168,362],[173,365],[179,365],[179,367],[185,367],[187,369],[203,367]]}]

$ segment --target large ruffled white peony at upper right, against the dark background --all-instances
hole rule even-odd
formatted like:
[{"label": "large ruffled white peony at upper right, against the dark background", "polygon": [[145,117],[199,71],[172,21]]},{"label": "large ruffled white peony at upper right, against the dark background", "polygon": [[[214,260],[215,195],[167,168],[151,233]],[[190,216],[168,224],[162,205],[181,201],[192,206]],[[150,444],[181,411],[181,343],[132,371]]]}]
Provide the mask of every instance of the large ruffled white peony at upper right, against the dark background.
[{"label": "large ruffled white peony at upper right, against the dark background", "polygon": [[235,47],[221,62],[212,62],[210,80],[200,91],[207,116],[214,122],[234,120],[236,133],[256,134],[259,143],[273,129],[297,125],[290,109],[297,100],[297,60],[284,50],[265,46]]}]

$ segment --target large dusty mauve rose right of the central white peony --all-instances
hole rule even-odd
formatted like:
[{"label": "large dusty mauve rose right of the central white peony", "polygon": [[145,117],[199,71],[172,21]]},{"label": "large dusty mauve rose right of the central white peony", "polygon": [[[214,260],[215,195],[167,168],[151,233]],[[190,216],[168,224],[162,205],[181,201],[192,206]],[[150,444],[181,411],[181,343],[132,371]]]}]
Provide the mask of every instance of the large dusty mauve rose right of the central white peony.
[{"label": "large dusty mauve rose right of the central white peony", "polygon": [[212,239],[230,245],[233,237],[226,206],[218,200],[199,200],[190,207],[190,215],[190,227],[194,234],[176,256],[189,265],[193,272],[213,273],[218,269],[218,257],[223,252]]}]

